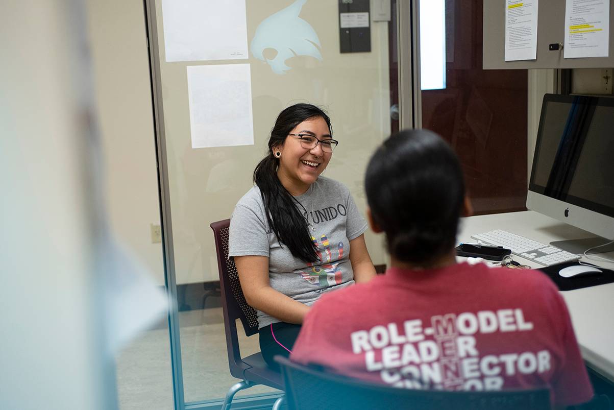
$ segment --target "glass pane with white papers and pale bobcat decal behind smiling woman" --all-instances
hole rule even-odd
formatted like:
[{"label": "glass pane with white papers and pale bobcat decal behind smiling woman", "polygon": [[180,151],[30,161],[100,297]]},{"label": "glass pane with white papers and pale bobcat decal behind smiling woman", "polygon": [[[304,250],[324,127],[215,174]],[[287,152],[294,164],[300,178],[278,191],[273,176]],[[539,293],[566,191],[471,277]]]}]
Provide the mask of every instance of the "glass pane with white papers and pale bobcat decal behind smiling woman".
[{"label": "glass pane with white papers and pale bobcat decal behind smiling woman", "polygon": [[[396,53],[390,52],[397,44],[396,6],[352,20],[340,11],[364,9],[345,3],[146,2],[167,286],[177,309],[169,321],[176,408],[218,401],[238,381],[228,372],[209,224],[230,218],[252,187],[282,109],[308,102],[328,112],[340,142],[324,176],[346,184],[365,211],[365,165],[397,126],[391,119]],[[367,10],[370,4],[354,3]],[[201,41],[185,40],[195,37]],[[373,262],[386,264],[381,238],[365,236]],[[243,355],[259,350],[257,338],[241,338]],[[272,391],[258,386],[239,395]]]}]

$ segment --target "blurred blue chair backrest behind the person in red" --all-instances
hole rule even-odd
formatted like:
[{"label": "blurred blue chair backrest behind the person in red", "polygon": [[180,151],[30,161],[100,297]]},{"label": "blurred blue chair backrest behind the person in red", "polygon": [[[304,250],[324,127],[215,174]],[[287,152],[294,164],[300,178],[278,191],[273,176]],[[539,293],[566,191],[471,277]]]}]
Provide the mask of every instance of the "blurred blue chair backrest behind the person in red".
[{"label": "blurred blue chair backrest behind the person in red", "polygon": [[276,356],[290,410],[309,409],[550,409],[550,390],[448,392],[371,384]]}]

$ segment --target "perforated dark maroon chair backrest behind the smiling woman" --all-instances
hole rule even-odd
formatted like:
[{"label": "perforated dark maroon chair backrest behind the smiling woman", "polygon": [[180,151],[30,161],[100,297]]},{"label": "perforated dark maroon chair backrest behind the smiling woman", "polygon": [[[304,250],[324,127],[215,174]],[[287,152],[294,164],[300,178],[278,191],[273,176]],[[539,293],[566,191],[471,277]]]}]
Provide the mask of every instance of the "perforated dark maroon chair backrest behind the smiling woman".
[{"label": "perforated dark maroon chair backrest behind the smiling woman", "polygon": [[245,366],[243,361],[241,361],[236,320],[241,319],[245,334],[252,336],[252,334],[258,333],[258,318],[254,308],[247,304],[245,296],[243,296],[235,262],[232,259],[228,259],[228,227],[230,226],[230,219],[214,222],[210,226],[213,229],[216,240],[217,267],[220,275],[228,361],[230,362],[230,373],[233,374],[233,365],[241,369]]}]

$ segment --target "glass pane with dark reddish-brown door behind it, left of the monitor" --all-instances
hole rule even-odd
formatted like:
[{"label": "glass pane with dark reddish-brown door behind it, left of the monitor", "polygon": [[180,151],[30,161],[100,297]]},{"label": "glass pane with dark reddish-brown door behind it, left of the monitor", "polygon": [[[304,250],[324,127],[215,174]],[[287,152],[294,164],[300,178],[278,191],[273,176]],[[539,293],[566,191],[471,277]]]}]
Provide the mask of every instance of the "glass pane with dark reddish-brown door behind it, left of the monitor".
[{"label": "glass pane with dark reddish-brown door behind it, left of the monitor", "polygon": [[482,69],[481,0],[419,6],[420,68],[429,76],[421,76],[417,125],[453,146],[476,214],[526,210],[527,70]]}]

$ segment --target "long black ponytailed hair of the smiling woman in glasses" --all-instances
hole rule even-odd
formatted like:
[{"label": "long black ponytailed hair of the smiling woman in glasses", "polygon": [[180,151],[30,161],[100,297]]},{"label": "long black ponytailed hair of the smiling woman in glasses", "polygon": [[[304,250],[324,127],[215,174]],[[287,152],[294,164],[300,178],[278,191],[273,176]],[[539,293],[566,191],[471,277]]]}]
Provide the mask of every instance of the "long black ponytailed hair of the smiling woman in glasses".
[{"label": "long black ponytailed hair of the smiling woman in glasses", "polygon": [[271,137],[268,152],[254,170],[254,183],[260,188],[265,204],[266,218],[279,243],[288,246],[295,258],[306,262],[319,261],[316,244],[309,235],[307,220],[297,208],[297,200],[284,188],[277,176],[279,159],[273,155],[273,148],[286,141],[288,133],[303,121],[321,117],[332,134],[330,118],[326,112],[312,104],[294,104],[279,113]]}]

